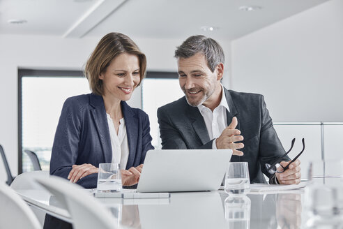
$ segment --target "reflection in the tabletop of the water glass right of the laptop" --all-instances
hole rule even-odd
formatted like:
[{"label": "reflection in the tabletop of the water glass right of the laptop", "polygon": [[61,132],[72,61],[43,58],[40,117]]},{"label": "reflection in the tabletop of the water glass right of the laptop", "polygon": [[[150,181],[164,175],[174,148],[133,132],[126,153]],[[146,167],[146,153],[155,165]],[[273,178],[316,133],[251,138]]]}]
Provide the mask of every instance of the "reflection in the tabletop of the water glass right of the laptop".
[{"label": "reflection in the tabletop of the water glass right of the laptop", "polygon": [[250,228],[251,200],[246,195],[229,195],[224,209],[228,228]]}]

